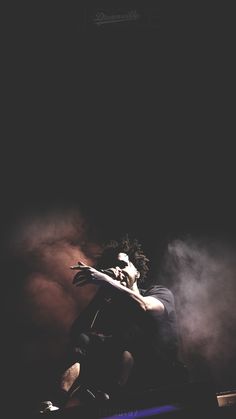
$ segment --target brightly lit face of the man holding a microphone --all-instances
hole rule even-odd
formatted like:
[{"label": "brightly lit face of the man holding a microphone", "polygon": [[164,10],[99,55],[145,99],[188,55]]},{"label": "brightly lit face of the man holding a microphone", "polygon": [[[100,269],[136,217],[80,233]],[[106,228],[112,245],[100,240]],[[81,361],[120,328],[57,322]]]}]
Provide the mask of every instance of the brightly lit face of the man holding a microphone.
[{"label": "brightly lit face of the man holding a microphone", "polygon": [[132,288],[140,275],[126,253],[117,255],[114,273],[116,279],[127,288]]}]

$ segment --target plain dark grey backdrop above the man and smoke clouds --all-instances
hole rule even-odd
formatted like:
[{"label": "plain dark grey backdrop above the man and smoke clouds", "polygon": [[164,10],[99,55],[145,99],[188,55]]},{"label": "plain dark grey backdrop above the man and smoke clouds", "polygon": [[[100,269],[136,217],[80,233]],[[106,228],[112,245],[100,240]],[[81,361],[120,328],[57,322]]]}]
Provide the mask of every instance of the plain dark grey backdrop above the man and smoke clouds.
[{"label": "plain dark grey backdrop above the man and smoke clouds", "polygon": [[[130,9],[138,22],[93,24],[99,10]],[[219,245],[231,260],[231,12],[161,1],[5,11],[1,227],[8,263],[9,232],[22,218],[71,209],[86,220],[91,242],[127,231],[142,240],[158,275],[176,239],[203,240],[208,253],[206,241]],[[17,301],[15,276],[4,278]],[[216,374],[219,387],[235,384],[229,355]]]}]

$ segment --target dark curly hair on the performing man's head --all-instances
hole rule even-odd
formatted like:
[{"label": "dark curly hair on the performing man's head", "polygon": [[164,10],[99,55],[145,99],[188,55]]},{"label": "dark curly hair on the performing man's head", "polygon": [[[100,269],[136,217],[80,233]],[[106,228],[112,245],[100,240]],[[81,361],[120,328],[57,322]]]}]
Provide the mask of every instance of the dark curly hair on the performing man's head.
[{"label": "dark curly hair on the performing man's head", "polygon": [[119,241],[111,240],[103,245],[102,253],[96,264],[97,269],[108,269],[111,266],[114,266],[119,253],[126,253],[129,256],[129,260],[140,272],[139,282],[144,282],[149,271],[149,259],[144,254],[142,246],[138,240],[130,239],[128,234],[122,237]]}]

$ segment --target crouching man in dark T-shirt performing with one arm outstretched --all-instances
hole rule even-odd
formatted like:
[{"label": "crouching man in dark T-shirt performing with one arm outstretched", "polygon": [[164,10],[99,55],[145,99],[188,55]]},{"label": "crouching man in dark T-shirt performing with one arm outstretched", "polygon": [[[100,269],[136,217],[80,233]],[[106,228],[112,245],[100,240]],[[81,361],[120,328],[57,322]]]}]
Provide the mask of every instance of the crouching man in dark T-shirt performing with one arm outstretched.
[{"label": "crouching man in dark T-shirt performing with one arm outstretched", "polygon": [[68,385],[70,373],[64,376],[69,394],[77,392],[82,402],[185,379],[178,360],[174,297],[162,285],[141,287],[148,262],[139,242],[125,236],[104,247],[96,267],[82,261],[71,267],[78,270],[76,286],[100,285],[72,327],[77,386]]}]

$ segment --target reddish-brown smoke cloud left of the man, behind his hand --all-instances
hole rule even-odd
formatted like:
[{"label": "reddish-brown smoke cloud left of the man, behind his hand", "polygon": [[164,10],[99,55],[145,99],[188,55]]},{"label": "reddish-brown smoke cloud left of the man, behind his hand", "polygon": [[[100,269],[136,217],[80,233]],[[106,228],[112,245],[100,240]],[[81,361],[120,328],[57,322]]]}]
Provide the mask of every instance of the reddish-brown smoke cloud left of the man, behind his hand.
[{"label": "reddish-brown smoke cloud left of the man, behind his hand", "polygon": [[21,283],[14,310],[23,331],[23,358],[57,358],[73,320],[97,290],[72,285],[70,266],[79,260],[93,264],[98,246],[87,237],[79,212],[64,210],[26,217],[12,233],[10,248],[27,267],[10,278]]}]

